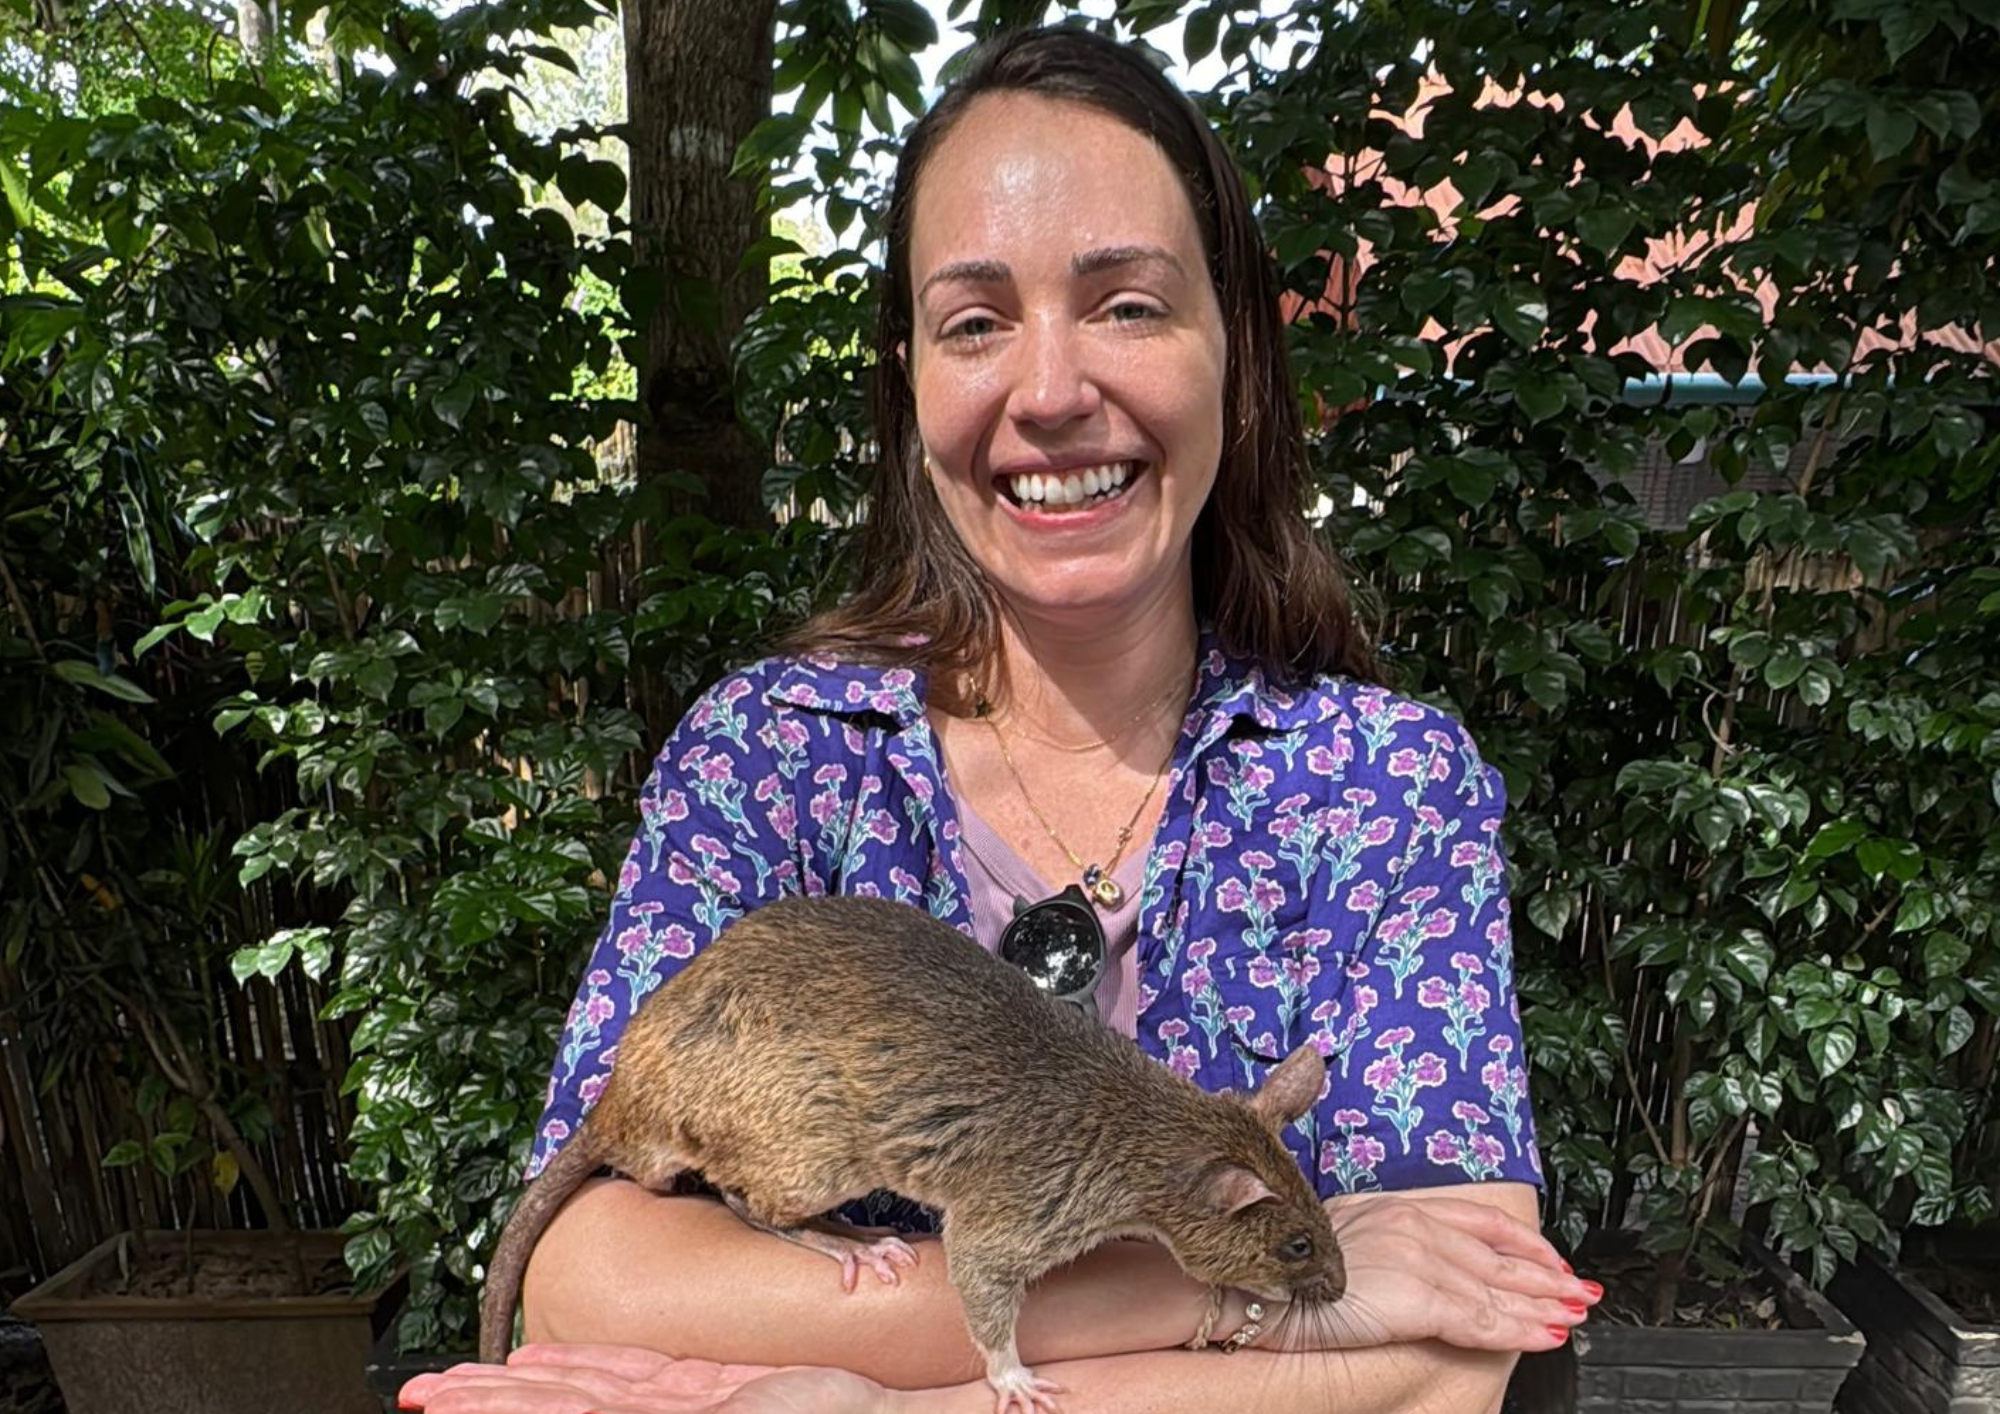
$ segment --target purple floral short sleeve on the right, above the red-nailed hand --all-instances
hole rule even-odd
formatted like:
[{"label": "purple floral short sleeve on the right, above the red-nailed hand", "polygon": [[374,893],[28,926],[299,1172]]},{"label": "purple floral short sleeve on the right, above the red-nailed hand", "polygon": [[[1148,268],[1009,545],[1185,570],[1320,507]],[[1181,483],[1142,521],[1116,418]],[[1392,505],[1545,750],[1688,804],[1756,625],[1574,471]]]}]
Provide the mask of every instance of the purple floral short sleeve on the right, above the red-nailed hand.
[{"label": "purple floral short sleeve on the right, above the red-nailed hand", "polygon": [[1398,734],[1386,776],[1404,792],[1408,838],[1356,956],[1350,996],[1374,1016],[1324,1144],[1336,1166],[1370,1172],[1368,1186],[1540,1186],[1500,772],[1458,722],[1426,708]]}]

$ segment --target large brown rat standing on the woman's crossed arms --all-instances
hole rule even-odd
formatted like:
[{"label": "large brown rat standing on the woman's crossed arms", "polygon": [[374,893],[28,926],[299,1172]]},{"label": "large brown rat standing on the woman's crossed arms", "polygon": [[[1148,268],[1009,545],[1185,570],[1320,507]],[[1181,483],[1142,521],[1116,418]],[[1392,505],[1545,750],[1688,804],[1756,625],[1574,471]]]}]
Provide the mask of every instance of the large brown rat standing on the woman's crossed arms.
[{"label": "large brown rat standing on the woman's crossed arms", "polygon": [[880,1188],[944,1214],[944,1256],[998,1414],[1054,1410],[1020,1362],[1026,1286],[1112,1238],[1210,1286],[1332,1302],[1334,1232],[1278,1130],[1320,1096],[1308,1044],[1254,1096],[1208,1094],[904,904],[792,898],[730,924],[626,1026],[590,1116],[522,1194],[486,1272],[506,1358],[536,1238],[600,1166],[698,1170],[752,1226],[886,1280],[894,1238],[808,1228]]}]

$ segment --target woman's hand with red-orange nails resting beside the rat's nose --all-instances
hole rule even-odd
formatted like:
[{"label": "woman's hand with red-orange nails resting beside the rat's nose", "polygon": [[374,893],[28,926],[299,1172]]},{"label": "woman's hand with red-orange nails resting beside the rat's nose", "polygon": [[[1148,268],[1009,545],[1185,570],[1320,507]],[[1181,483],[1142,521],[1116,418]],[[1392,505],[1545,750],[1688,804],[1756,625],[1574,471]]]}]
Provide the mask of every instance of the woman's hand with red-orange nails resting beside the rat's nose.
[{"label": "woman's hand with red-orange nails resting beside the rat's nose", "polygon": [[1286,1312],[1258,1344],[1360,1350],[1442,1340],[1466,1350],[1554,1350],[1604,1294],[1540,1232],[1488,1202],[1358,1194],[1326,1204],[1348,1290]]}]

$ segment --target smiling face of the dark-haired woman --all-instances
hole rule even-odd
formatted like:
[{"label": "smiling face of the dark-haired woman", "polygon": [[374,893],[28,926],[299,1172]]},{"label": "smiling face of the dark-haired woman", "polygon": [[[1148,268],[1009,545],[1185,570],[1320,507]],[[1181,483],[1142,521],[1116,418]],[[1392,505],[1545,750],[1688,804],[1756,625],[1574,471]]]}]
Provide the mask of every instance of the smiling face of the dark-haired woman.
[{"label": "smiling face of the dark-haired woman", "polygon": [[910,274],[918,430],[1000,594],[1044,620],[1184,602],[1226,340],[1160,150],[1094,108],[980,98],[918,184]]}]

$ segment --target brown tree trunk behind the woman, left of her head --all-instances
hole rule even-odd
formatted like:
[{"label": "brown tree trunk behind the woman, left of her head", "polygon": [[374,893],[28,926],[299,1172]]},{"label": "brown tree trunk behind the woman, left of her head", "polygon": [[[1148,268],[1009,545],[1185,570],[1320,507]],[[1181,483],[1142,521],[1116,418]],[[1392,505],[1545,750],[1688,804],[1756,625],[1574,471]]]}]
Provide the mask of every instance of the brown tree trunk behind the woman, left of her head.
[{"label": "brown tree trunk behind the woman, left of her head", "polygon": [[730,340],[764,298],[738,272],[766,230],[758,184],[732,180],[736,146],[770,116],[776,0],[624,0],[632,250],[658,276],[638,396],[638,474],[688,472],[704,508],[768,524],[768,452],[736,420]]}]

